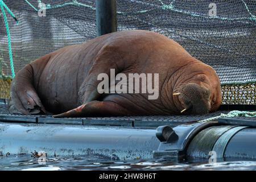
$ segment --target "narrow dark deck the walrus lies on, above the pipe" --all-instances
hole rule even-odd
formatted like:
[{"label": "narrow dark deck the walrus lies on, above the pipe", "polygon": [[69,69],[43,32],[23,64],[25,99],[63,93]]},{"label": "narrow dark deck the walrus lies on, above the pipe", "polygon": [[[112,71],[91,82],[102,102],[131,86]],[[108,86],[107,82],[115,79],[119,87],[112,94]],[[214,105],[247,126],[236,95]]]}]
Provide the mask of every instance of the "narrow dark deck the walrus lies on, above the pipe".
[{"label": "narrow dark deck the walrus lies on, above the pipe", "polygon": [[162,125],[171,127],[186,122],[195,122],[203,119],[216,117],[221,113],[228,113],[228,110],[216,111],[204,115],[149,115],[131,117],[88,117],[88,118],[52,118],[51,115],[22,115],[9,114],[5,104],[0,104],[0,121],[2,122],[30,122],[30,123],[51,123],[69,125],[106,125],[124,126],[151,129]]}]

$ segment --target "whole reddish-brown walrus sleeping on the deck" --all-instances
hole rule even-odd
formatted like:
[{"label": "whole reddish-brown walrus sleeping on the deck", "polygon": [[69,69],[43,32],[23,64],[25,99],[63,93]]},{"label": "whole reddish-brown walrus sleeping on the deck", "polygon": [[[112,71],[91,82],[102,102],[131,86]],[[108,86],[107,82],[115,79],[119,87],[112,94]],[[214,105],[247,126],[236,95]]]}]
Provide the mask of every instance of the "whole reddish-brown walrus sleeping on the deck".
[{"label": "whole reddish-brown walrus sleeping on the deck", "polygon": [[[147,94],[100,95],[97,76],[110,76],[110,68],[127,76],[159,73],[158,99],[148,100]],[[175,92],[181,94],[173,96]],[[9,111],[79,117],[171,115],[188,108],[183,114],[204,114],[220,104],[220,80],[212,67],[166,36],[132,30],[67,46],[27,64],[11,85]]]}]

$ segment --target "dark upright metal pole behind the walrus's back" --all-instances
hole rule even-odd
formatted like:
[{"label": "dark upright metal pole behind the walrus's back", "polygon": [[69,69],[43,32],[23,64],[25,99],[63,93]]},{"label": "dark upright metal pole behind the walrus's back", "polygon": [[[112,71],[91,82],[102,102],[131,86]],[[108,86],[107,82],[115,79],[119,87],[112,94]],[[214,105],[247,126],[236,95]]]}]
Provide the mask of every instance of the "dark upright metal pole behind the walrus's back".
[{"label": "dark upright metal pole behind the walrus's back", "polygon": [[96,24],[98,36],[117,31],[116,0],[96,0]]}]

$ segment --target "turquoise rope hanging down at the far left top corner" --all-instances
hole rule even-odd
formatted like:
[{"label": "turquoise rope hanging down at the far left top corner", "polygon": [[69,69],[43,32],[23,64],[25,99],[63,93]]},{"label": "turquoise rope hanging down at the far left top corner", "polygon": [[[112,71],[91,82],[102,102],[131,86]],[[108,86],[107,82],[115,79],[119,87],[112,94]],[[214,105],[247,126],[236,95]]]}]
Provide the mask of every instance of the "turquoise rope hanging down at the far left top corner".
[{"label": "turquoise rope hanging down at the far left top corner", "polygon": [[5,9],[15,19],[17,24],[18,24],[18,20],[16,19],[15,15],[13,14],[13,12],[11,12],[9,7],[7,7],[6,4],[2,0],[0,0],[0,7],[1,7],[2,14],[3,14],[3,20],[5,21],[5,28],[6,28],[6,34],[7,34],[7,40],[8,40],[8,48],[9,48],[11,76],[14,78],[15,77],[15,71],[14,71],[14,64],[13,64],[13,52],[11,51],[11,36],[10,36],[10,30],[9,30],[7,16],[5,14]]}]

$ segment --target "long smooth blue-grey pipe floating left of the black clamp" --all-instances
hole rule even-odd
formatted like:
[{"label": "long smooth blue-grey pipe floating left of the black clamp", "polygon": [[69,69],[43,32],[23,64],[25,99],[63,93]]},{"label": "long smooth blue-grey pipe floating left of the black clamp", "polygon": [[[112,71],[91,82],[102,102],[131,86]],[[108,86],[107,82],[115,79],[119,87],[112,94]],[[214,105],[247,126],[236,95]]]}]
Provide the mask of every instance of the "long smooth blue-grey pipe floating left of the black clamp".
[{"label": "long smooth blue-grey pipe floating left of the black clamp", "polygon": [[153,129],[0,122],[2,154],[44,151],[47,156],[97,154],[121,160],[151,159],[158,145]]}]

